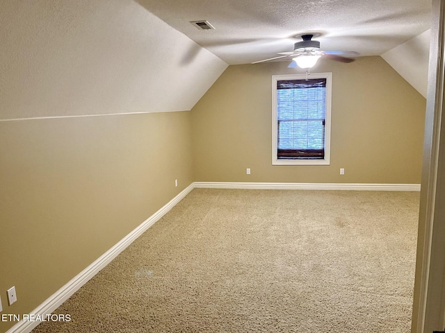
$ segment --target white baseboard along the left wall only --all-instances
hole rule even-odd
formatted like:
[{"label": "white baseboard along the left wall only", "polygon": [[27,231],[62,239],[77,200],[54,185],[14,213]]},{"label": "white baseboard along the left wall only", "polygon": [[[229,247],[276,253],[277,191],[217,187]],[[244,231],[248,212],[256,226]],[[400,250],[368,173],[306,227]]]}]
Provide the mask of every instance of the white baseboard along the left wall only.
[{"label": "white baseboard along the left wall only", "polygon": [[[172,207],[175,207],[179,201],[184,198],[194,188],[193,183],[186,187],[175,198],[172,198],[166,205],[160,210],[150,216],[147,220],[141,223],[136,229],[131,231],[127,236],[115,244],[110,250],[106,251],[95,262],[92,262],[90,266],[85,268],[81,273],[77,274],[70,282],[67,282],[65,286],[58,289],[56,293],[47,298],[41,305],[30,312],[30,315],[44,317],[47,314],[51,314],[55,309],[60,307],[65,300],[70,298],[73,293],[78,291],[83,284],[86,284],[93,276],[95,276],[102,268],[108,265],[115,257],[117,257],[127,246],[135,241],[143,232],[150,228],[156,221],[161,219]],[[10,328],[6,333],[29,333],[33,330],[40,321],[19,321],[16,325]]]}]

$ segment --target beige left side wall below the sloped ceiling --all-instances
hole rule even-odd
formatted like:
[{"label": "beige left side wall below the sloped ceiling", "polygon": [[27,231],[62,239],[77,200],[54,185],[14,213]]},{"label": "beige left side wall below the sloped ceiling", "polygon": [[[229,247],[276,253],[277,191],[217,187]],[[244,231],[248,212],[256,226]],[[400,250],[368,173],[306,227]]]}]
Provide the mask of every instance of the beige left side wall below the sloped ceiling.
[{"label": "beige left side wall below the sloped ceiling", "polygon": [[191,155],[191,112],[0,121],[1,314],[28,314],[190,185]]}]

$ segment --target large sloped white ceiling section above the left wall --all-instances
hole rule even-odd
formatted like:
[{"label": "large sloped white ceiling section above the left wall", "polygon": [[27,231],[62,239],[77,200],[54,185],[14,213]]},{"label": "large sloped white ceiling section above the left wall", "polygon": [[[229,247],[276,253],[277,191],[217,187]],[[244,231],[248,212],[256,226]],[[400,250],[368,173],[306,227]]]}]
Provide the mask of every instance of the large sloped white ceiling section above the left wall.
[{"label": "large sloped white ceiling section above the left wall", "polygon": [[0,22],[0,119],[190,110],[227,67],[132,0],[2,0]]}]

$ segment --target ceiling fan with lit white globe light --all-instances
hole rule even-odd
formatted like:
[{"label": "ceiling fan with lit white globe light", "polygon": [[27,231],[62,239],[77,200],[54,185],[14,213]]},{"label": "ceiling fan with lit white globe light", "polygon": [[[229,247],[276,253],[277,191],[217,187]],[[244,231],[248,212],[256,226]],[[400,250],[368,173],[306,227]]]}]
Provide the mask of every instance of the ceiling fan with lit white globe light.
[{"label": "ceiling fan with lit white globe light", "polygon": [[323,51],[320,49],[320,42],[318,42],[318,40],[312,40],[312,37],[318,37],[318,35],[315,33],[307,33],[296,37],[301,37],[302,41],[294,44],[293,51],[280,52],[277,54],[280,54],[281,56],[259,60],[252,62],[252,64],[280,58],[291,58],[292,62],[288,67],[291,68],[298,66],[303,69],[309,69],[314,67],[317,60],[322,56],[339,62],[353,62],[355,59],[348,57],[359,55],[359,53],[354,51]]}]

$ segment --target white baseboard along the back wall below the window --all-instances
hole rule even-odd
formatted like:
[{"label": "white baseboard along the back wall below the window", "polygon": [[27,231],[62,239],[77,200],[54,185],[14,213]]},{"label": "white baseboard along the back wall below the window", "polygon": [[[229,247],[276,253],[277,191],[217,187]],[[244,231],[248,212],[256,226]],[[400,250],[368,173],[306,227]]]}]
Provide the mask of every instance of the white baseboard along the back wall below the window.
[{"label": "white baseboard along the back wall below the window", "polygon": [[420,191],[420,184],[341,184],[307,182],[194,182],[200,189],[316,189],[348,191]]}]

